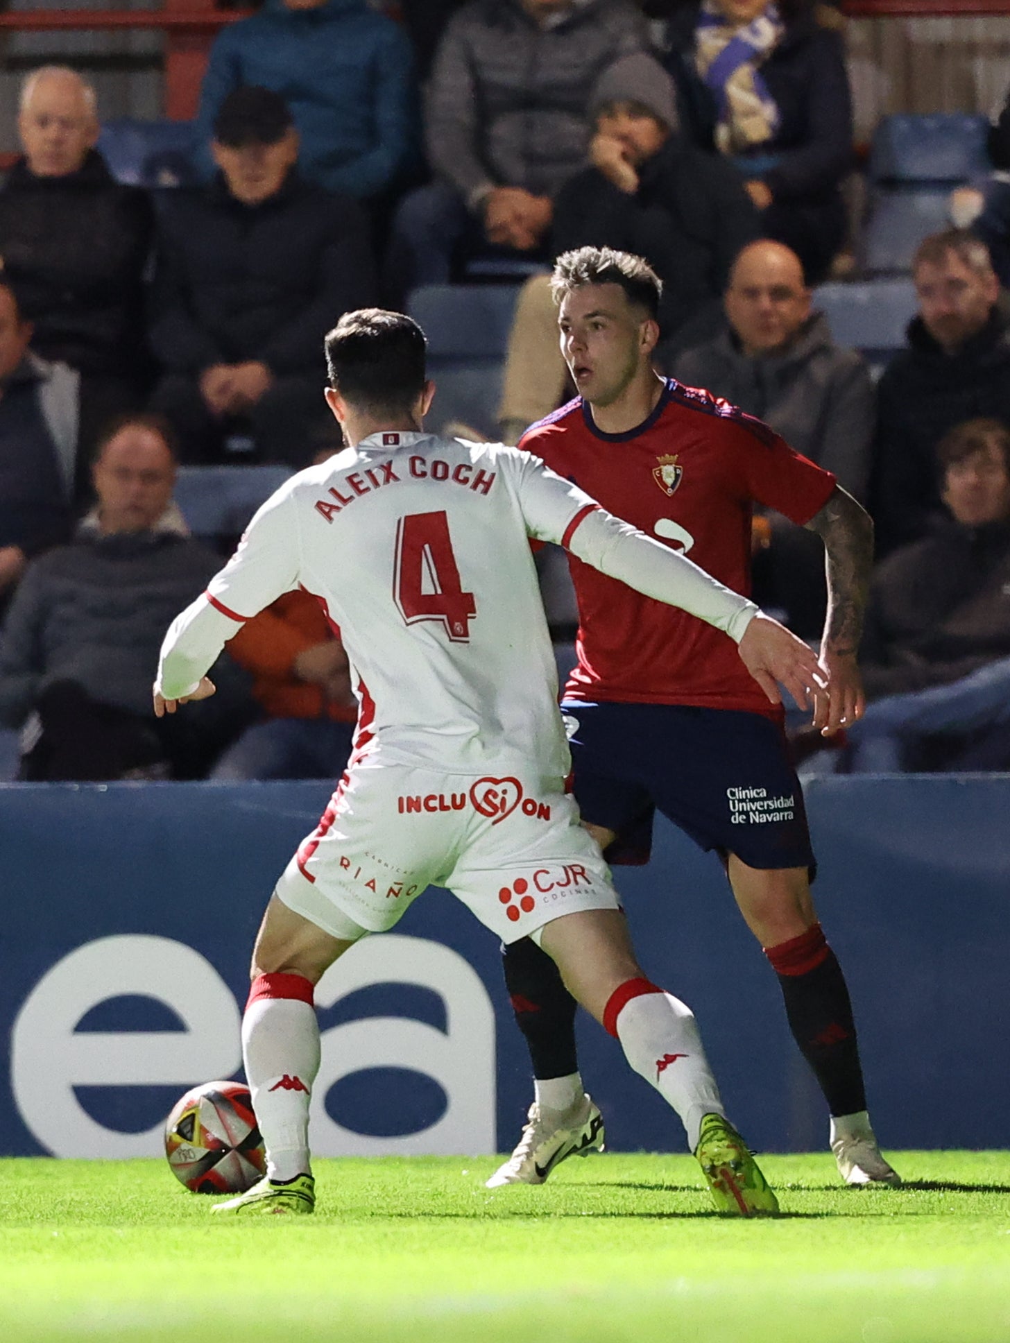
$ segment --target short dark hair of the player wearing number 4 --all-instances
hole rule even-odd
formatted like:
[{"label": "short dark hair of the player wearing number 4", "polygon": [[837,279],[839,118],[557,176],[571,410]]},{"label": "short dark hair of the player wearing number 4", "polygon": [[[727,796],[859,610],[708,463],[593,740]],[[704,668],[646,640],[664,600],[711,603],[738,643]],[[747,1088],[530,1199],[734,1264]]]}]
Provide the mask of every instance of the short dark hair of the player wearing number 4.
[{"label": "short dark hair of the player wearing number 4", "polygon": [[329,385],[360,410],[403,414],[424,391],[426,349],[424,332],[404,313],[344,313],[326,336]]}]

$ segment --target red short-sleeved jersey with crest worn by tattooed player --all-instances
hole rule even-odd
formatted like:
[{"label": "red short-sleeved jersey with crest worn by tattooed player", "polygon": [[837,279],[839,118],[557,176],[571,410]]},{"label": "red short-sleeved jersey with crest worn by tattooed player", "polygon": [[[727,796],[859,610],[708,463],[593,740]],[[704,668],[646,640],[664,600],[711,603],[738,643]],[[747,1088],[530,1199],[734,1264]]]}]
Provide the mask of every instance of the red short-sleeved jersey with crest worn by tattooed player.
[{"label": "red short-sleeved jersey with crest worn by tattooed player", "polygon": [[[830,471],[762,420],[674,379],[627,434],[596,428],[579,396],[529,428],[520,447],[744,596],[751,594],[753,504],[802,525],[834,489]],[[579,603],[579,663],[565,698],[780,713],[732,639],[575,556],[568,563]]]}]

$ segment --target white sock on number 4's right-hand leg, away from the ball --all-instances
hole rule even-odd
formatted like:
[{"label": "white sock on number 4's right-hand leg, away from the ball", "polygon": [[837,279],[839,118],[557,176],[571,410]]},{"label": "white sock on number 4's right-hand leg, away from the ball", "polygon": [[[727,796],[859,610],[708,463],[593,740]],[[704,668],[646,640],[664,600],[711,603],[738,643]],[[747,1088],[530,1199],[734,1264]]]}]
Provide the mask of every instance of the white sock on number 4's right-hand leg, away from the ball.
[{"label": "white sock on number 4's right-hand leg, away from the ball", "polygon": [[690,1007],[673,994],[639,994],[618,1013],[616,1033],[629,1064],[680,1115],[693,1152],[704,1116],[725,1117],[725,1108]]}]

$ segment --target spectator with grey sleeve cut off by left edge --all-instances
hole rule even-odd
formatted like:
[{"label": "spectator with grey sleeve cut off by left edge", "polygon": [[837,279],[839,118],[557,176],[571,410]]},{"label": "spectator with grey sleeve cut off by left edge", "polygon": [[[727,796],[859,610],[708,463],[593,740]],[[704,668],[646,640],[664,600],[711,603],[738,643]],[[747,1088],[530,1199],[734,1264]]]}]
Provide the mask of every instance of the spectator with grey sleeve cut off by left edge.
[{"label": "spectator with grey sleeve cut off by left edge", "polygon": [[0,281],[0,614],[28,560],[70,536],[79,377],[30,349]]}]

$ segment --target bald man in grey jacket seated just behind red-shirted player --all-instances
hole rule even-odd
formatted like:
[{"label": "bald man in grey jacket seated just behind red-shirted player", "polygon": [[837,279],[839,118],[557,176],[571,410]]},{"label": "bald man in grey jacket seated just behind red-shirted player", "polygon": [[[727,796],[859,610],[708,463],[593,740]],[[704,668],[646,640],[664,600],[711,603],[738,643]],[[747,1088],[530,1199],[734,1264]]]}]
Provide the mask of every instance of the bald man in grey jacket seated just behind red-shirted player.
[{"label": "bald man in grey jacket seated just behind red-shirted player", "polygon": [[[725,291],[727,326],[685,351],[673,371],[682,383],[766,420],[805,457],[866,498],[873,443],[873,383],[860,355],[831,340],[811,309],[799,257],[782,243],[751,243]],[[758,518],[755,588],[784,610],[798,634],[817,638],[825,619],[823,547],[778,513]]]}]

